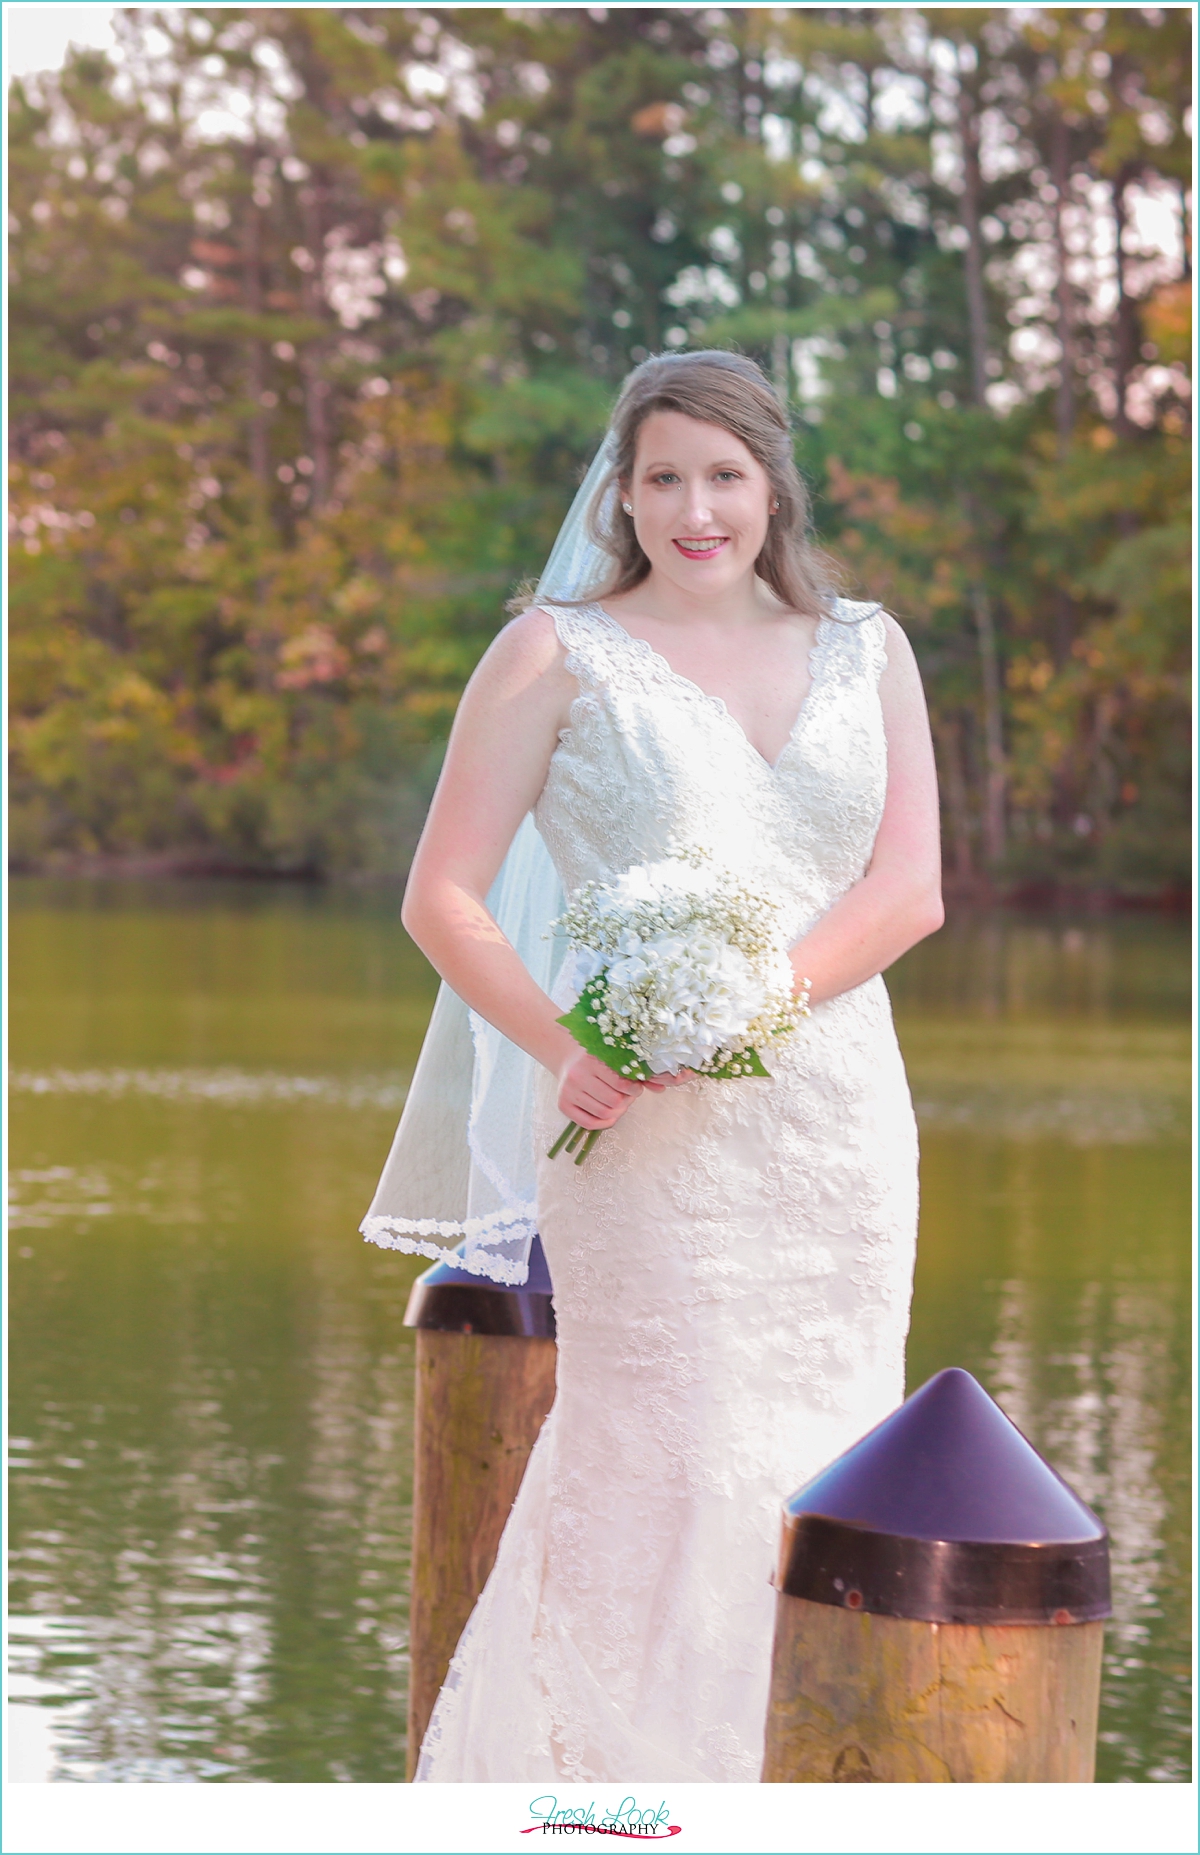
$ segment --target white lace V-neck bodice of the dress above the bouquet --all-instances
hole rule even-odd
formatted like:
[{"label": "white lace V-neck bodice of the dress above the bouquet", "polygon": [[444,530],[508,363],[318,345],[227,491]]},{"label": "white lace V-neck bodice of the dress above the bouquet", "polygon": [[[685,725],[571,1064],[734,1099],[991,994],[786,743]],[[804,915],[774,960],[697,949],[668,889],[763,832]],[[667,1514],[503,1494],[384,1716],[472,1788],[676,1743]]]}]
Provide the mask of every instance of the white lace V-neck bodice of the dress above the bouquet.
[{"label": "white lace V-neck bodice of the dress above the bouquet", "polygon": [[870,863],[887,792],[879,607],[838,601],[773,766],[720,696],[677,675],[603,607],[547,607],[579,681],[536,805],[568,892],[703,844],[781,894],[798,939]]}]

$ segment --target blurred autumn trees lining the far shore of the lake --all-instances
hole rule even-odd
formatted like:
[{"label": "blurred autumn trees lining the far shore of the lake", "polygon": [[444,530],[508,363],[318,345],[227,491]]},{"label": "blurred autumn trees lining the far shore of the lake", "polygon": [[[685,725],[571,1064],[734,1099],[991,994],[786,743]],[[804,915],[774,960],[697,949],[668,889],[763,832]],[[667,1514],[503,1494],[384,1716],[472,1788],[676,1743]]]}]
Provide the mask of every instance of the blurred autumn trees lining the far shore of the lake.
[{"label": "blurred autumn trees lining the far shore of the lake", "polygon": [[733,345],[964,890],[1187,879],[1191,9],[128,7],[17,82],[13,851],[402,874],[623,373]]}]

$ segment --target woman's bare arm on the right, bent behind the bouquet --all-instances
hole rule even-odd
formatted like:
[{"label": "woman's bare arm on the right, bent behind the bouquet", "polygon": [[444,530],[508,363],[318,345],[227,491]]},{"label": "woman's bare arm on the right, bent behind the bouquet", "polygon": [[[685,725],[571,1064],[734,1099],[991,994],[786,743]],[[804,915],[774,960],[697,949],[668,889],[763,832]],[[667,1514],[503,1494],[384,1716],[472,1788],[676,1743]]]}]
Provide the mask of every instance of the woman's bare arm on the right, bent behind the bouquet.
[{"label": "woman's bare arm on the right, bent behind the bouquet", "polygon": [[888,788],[870,868],[792,948],[796,979],[812,979],[812,1000],[862,985],[935,933],[942,911],[937,772],[926,694],[913,647],[887,623],[879,679],[888,748]]}]

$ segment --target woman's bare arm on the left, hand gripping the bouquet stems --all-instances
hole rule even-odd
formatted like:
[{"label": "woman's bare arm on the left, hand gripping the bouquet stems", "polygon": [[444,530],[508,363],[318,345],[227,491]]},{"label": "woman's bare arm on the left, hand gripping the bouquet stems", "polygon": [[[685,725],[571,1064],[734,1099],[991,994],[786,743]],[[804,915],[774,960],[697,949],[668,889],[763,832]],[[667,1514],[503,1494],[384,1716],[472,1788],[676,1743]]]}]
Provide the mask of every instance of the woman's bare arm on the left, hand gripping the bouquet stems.
[{"label": "woman's bare arm on the left, hand gripping the bouquet stems", "polygon": [[545,785],[575,694],[545,612],[525,612],[501,631],[458,705],[401,918],[445,983],[558,1076],[564,1115],[608,1128],[642,1085],[588,1055],[556,1022],[558,1007],[484,902]]}]

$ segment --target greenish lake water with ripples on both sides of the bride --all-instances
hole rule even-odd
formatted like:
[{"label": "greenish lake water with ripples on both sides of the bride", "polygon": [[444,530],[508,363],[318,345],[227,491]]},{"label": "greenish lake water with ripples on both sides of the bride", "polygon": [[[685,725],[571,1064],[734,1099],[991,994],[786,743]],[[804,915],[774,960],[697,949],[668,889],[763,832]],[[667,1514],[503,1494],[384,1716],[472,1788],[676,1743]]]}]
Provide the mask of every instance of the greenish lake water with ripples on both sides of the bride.
[{"label": "greenish lake water with ripples on both sides of the bride", "polygon": [[[11,887],[13,1775],[404,1777],[412,1334],[367,1247],[432,1002],[393,894]],[[1189,1777],[1189,944],[972,916],[888,976],[909,1384],[1105,1517],[1107,1783]]]}]

